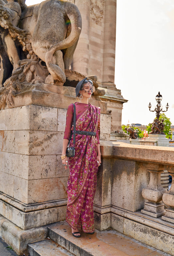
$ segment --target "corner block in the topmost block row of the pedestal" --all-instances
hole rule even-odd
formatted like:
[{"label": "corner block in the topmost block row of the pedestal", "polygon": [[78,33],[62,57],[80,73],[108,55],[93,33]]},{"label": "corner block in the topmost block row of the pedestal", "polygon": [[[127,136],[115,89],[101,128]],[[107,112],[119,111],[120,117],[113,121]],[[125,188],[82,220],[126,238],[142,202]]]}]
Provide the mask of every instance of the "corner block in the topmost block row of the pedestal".
[{"label": "corner block in the topmost block row of the pedestal", "polygon": [[6,130],[57,130],[57,108],[28,105],[6,111]]}]

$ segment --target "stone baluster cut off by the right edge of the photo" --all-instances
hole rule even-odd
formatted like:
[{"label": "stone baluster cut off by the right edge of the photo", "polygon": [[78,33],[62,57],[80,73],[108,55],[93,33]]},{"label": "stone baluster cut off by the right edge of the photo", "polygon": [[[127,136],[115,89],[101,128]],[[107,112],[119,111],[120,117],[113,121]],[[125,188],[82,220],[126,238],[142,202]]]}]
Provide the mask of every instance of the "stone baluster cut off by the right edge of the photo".
[{"label": "stone baluster cut off by the right edge of the photo", "polygon": [[163,202],[168,205],[169,208],[166,209],[166,214],[162,219],[174,223],[174,166],[165,167],[172,176],[172,184],[170,190],[163,195]]}]

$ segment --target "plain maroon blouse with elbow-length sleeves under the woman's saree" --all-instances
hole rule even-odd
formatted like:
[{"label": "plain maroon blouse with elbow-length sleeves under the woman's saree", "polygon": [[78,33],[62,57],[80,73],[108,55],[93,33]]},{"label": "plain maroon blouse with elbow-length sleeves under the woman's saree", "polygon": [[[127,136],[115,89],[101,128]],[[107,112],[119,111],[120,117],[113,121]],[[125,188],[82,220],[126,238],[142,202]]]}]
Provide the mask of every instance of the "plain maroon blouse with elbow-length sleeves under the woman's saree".
[{"label": "plain maroon blouse with elbow-length sleeves under the woman's saree", "polygon": [[[81,114],[88,108],[88,104],[75,102],[75,107],[76,107],[75,112],[76,112],[76,121],[77,121],[79,116],[81,116]],[[67,109],[67,118],[66,118],[64,139],[70,138],[72,123],[73,123],[73,113],[74,113],[74,106],[73,106],[73,104],[70,104]],[[99,135],[100,135],[100,123],[98,123],[98,128],[97,128],[97,132],[96,132],[98,144],[100,144]]]}]

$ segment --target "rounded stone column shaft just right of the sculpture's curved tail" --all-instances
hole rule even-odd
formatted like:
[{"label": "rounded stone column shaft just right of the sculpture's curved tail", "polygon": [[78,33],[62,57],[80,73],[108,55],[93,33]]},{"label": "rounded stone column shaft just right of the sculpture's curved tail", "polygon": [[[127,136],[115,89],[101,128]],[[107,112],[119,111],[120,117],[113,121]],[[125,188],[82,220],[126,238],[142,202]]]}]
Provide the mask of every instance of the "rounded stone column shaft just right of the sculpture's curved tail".
[{"label": "rounded stone column shaft just right of the sculpture's curved tail", "polygon": [[82,32],[73,57],[73,70],[84,75],[89,72],[89,31],[90,31],[90,1],[76,0],[75,5],[82,15]]}]

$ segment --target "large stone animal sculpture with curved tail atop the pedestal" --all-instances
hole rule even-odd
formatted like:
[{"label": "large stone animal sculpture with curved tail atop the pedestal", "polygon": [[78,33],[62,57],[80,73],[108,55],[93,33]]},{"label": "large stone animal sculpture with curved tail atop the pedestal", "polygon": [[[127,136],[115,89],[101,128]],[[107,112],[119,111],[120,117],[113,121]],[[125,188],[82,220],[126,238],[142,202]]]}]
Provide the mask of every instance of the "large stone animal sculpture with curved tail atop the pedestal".
[{"label": "large stone animal sculpture with curved tail atop the pedestal", "polygon": [[70,1],[0,0],[0,109],[31,84],[64,84],[81,28]]}]

